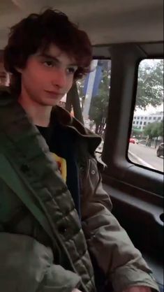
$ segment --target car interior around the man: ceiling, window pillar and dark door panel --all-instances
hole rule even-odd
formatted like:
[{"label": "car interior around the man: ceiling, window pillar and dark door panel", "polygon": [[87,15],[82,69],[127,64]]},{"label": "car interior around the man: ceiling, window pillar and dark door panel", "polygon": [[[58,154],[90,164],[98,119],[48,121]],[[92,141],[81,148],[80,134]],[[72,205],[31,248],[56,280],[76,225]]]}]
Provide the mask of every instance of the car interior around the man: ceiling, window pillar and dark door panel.
[{"label": "car interior around the man: ceiling, window pillar and dark door panel", "polygon": [[[142,59],[163,59],[163,0],[1,0],[0,54],[13,24],[48,7],[66,13],[87,31],[94,59],[111,59],[103,187],[112,200],[113,214],[163,291],[163,173],[132,163],[127,154],[138,66]],[[83,122],[76,85],[67,95],[66,109],[71,106]]]}]

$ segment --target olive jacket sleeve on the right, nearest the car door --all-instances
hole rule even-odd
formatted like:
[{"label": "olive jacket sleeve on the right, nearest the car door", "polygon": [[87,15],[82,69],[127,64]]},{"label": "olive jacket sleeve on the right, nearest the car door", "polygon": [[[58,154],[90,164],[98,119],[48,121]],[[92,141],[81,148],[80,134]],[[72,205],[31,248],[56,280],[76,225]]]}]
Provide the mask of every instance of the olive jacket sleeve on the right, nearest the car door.
[{"label": "olive jacket sleeve on the right, nearest the car door", "polygon": [[103,270],[114,291],[130,286],[149,286],[158,290],[156,281],[140,251],[135,249],[124,228],[112,215],[112,203],[103,190],[96,159],[89,159],[83,184],[82,227],[91,257]]}]

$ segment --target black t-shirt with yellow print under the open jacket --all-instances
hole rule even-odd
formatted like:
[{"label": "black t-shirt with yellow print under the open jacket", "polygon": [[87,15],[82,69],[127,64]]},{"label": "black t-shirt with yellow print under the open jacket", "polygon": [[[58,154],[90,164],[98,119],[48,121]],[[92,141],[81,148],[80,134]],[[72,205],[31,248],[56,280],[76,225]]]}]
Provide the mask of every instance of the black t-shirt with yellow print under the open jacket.
[{"label": "black t-shirt with yellow print under the open jacket", "polygon": [[75,207],[80,215],[80,187],[77,167],[76,133],[53,121],[49,127],[37,126],[40,134],[54,155],[59,165],[61,176],[66,181],[70,194],[73,197]]}]

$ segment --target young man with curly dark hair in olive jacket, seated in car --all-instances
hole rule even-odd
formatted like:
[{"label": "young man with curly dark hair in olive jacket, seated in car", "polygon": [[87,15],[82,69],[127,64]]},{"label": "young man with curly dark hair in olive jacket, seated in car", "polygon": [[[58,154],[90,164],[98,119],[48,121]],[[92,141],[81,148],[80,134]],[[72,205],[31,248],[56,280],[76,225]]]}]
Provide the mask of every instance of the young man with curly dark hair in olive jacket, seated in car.
[{"label": "young man with curly dark hair in olive jacket, seated in car", "polygon": [[89,38],[63,13],[29,15],[10,31],[10,92],[0,96],[1,291],[158,290],[111,213],[94,158],[100,138],[57,106],[91,59]]}]

